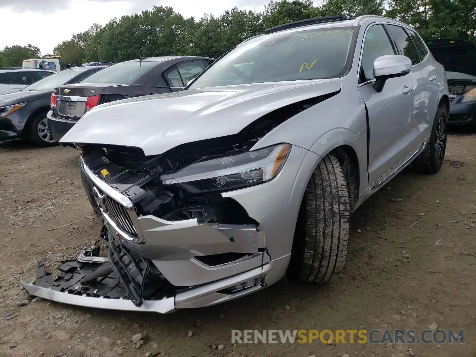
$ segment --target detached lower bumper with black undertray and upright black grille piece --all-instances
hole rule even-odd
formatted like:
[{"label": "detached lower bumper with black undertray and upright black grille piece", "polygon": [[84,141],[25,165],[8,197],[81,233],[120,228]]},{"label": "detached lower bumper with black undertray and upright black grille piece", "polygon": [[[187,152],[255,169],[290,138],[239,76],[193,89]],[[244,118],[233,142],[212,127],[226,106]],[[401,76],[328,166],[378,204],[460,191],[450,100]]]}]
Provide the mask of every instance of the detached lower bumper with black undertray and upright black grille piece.
[{"label": "detached lower bumper with black undertray and upright black grille piece", "polygon": [[[77,260],[66,260],[54,275],[38,263],[32,284],[22,283],[30,295],[63,304],[111,310],[167,314],[180,308],[212,306],[266,287],[273,262],[207,284],[176,287],[148,259],[109,236],[108,258],[99,247],[83,249]],[[279,260],[279,259],[278,259]]]}]

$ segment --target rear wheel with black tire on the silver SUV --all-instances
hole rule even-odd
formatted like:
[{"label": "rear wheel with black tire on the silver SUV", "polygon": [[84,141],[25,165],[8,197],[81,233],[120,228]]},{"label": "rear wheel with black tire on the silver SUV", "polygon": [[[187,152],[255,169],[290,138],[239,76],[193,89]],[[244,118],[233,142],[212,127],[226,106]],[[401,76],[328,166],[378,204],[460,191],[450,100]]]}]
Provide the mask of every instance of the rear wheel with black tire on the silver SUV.
[{"label": "rear wheel with black tire on the silver SUV", "polygon": [[430,139],[425,150],[412,162],[412,168],[424,174],[436,174],[441,169],[446,152],[448,109],[443,105],[436,110]]}]

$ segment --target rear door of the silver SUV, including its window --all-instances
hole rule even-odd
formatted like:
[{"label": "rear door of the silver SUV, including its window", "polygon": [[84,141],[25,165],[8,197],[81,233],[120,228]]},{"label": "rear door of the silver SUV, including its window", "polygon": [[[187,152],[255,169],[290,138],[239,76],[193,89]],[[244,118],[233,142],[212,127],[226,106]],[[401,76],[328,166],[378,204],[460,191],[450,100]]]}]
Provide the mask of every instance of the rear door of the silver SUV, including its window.
[{"label": "rear door of the silver SUV, including its window", "polygon": [[414,31],[397,25],[387,26],[399,53],[412,61],[413,69],[409,76],[413,77],[415,87],[414,146],[417,146],[429,134],[433,124],[434,113],[430,116],[429,108],[430,103],[436,102],[439,93],[439,87],[435,86],[436,67],[425,60],[428,50]]}]

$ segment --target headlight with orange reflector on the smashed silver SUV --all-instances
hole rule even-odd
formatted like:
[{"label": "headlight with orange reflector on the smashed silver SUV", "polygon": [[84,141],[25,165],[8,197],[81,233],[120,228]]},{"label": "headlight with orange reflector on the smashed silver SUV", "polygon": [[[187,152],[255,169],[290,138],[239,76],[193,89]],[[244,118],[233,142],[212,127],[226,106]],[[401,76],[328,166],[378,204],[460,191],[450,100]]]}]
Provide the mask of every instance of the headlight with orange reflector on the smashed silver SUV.
[{"label": "headlight with orange reflector on the smashed silver SUV", "polygon": [[160,178],[164,185],[181,184],[191,192],[244,188],[275,178],[290,151],[291,145],[279,144],[235,156],[196,162]]}]

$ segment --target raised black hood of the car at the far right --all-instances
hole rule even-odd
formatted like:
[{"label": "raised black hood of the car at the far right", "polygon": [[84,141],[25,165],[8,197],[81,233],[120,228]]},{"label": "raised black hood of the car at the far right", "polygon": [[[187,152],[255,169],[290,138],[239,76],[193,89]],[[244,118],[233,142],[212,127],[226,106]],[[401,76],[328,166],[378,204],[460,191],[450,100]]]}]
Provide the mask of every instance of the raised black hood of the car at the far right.
[{"label": "raised black hood of the car at the far right", "polygon": [[436,61],[446,71],[476,76],[476,46],[464,40],[426,40]]}]

